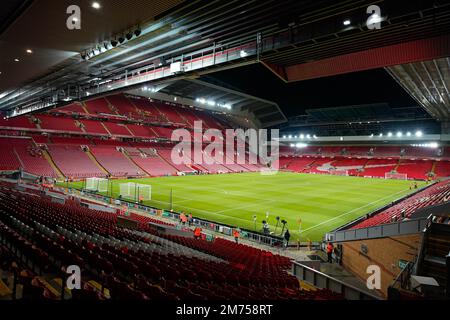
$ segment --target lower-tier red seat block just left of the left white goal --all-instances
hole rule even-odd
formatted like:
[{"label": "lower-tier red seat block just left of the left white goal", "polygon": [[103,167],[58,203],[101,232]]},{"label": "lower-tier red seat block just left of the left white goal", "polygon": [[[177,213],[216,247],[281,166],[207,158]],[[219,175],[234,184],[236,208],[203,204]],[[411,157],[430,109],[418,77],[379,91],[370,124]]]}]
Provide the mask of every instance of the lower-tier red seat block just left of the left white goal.
[{"label": "lower-tier red seat block just left of the left white goal", "polygon": [[79,145],[48,145],[50,155],[66,177],[104,177],[106,174],[97,166]]}]

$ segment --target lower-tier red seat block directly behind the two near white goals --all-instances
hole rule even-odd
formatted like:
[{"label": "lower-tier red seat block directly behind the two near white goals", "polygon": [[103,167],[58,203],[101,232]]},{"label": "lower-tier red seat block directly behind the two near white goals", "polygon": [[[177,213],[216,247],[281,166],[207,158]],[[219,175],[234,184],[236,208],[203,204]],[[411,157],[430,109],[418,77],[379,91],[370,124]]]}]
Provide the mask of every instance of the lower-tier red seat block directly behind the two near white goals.
[{"label": "lower-tier red seat block directly behind the two near white goals", "polygon": [[92,154],[109,173],[116,177],[145,175],[122,152],[112,146],[91,146]]}]

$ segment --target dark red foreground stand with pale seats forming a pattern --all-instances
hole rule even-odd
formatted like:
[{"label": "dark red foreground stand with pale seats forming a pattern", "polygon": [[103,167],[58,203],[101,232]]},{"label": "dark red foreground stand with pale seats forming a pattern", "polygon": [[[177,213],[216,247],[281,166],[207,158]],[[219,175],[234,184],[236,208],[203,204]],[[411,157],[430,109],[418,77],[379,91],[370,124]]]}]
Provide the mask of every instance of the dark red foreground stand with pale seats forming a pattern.
[{"label": "dark red foreground stand with pale seats forming a pattern", "polygon": [[[6,196],[6,190],[26,201]],[[104,284],[111,299],[342,299],[328,290],[300,291],[297,279],[286,273],[289,259],[268,251],[222,239],[164,236],[146,228],[145,218],[139,219],[140,231],[122,229],[115,225],[117,215],[6,187],[0,198],[0,210],[8,212],[0,217],[2,243],[14,244],[33,261],[32,273],[54,272],[56,261],[61,266],[76,262]],[[105,298],[98,292],[81,294]],[[35,295],[57,299],[45,290]]]}]

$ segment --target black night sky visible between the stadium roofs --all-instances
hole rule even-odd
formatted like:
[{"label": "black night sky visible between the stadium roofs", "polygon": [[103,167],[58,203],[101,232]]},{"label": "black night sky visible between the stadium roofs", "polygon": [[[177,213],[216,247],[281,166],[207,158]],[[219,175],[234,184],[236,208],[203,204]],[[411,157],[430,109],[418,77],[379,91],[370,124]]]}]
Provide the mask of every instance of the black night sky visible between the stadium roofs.
[{"label": "black night sky visible between the stadium roofs", "polygon": [[284,83],[261,64],[210,75],[245,93],[277,102],[287,117],[305,109],[387,102],[391,107],[417,105],[384,70]]}]

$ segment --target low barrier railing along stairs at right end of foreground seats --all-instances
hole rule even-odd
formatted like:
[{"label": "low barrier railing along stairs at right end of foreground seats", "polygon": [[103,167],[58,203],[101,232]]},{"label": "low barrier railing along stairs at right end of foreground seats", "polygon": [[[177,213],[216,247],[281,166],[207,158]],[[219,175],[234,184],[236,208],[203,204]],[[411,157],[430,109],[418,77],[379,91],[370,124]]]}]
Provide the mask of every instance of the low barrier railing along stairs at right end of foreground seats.
[{"label": "low barrier railing along stairs at right end of foreground seats", "polygon": [[[382,298],[361,290],[351,284],[333,278],[323,272],[310,268],[295,261],[293,264],[293,274],[300,280],[306,281],[315,287],[328,289],[335,293],[342,294],[348,300],[381,300]],[[310,277],[312,276],[312,281]]]}]

